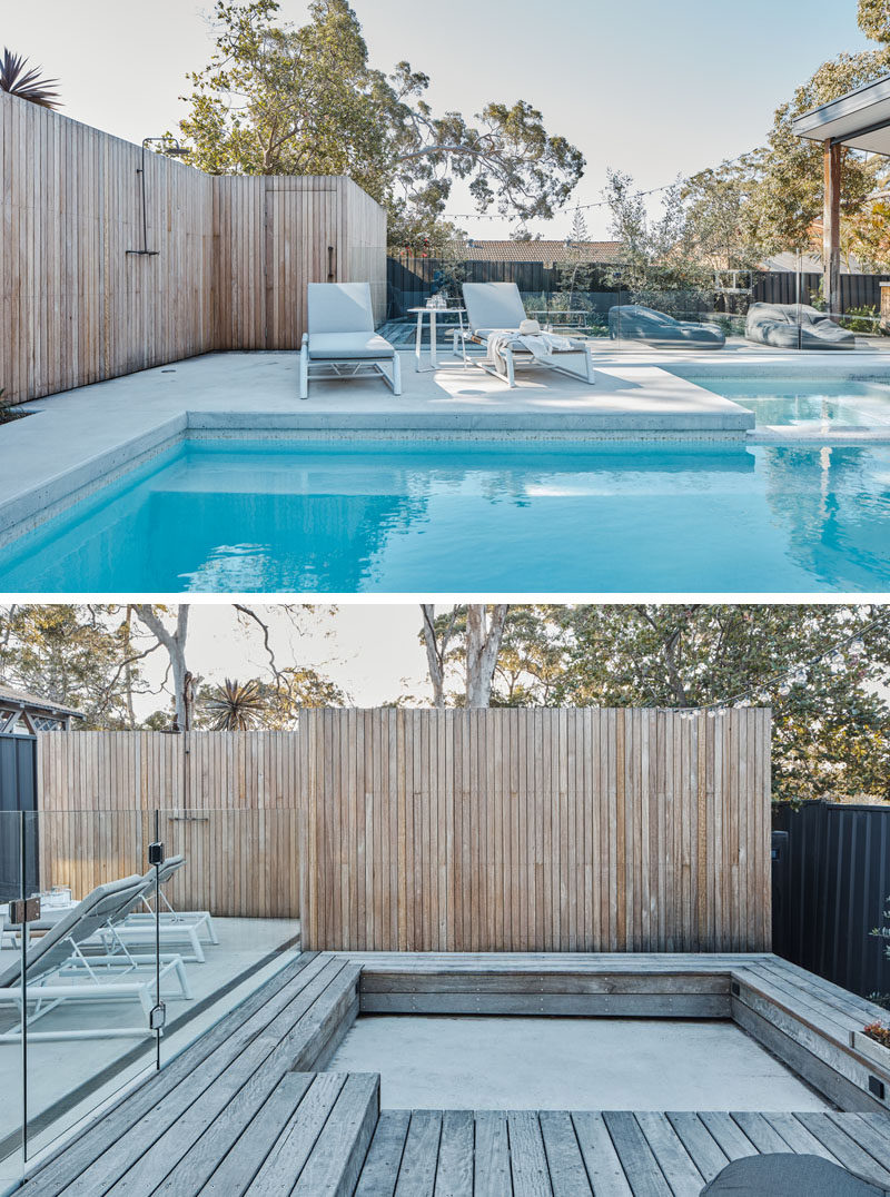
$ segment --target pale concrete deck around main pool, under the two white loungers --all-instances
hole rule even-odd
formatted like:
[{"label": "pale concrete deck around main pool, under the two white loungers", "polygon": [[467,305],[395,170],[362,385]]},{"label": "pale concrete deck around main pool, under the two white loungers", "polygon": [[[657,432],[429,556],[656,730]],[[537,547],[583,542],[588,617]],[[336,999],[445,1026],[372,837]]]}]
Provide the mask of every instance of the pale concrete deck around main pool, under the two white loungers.
[{"label": "pale concrete deck around main pool, under the two white loungers", "polygon": [[213,353],[26,405],[0,426],[0,543],[186,436],[734,437],[753,415],[646,356],[603,354],[593,387],[529,371],[510,390],[446,360],[402,395],[380,381],[316,382],[297,396],[296,353]]}]

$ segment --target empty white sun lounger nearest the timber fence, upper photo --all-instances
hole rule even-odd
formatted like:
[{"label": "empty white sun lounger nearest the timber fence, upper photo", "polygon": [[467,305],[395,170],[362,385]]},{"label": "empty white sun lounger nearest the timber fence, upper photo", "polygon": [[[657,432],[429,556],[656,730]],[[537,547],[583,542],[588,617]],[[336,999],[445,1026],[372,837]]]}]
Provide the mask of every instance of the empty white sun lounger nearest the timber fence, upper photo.
[{"label": "empty white sun lounger nearest the timber fence, upper photo", "polygon": [[374,332],[368,282],[310,282],[309,332],[299,351],[299,397],[309,397],[310,378],[380,376],[401,395],[395,348]]}]

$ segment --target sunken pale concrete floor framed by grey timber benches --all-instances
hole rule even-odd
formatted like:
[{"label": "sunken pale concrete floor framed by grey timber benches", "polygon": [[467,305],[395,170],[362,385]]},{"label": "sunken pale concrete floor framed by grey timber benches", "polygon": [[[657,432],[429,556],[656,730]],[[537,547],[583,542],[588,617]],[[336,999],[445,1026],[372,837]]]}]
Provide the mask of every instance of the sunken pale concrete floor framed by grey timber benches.
[{"label": "sunken pale concrete floor framed by grey timber benches", "polygon": [[830,1110],[732,1022],[362,1016],[328,1069],[386,1110]]}]

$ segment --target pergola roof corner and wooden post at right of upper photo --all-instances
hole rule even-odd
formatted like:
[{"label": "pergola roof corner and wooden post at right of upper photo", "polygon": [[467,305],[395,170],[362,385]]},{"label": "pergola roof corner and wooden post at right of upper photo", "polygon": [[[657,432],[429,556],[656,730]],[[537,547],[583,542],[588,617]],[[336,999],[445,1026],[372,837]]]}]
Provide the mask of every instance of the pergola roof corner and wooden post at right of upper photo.
[{"label": "pergola roof corner and wooden post at right of upper photo", "polygon": [[825,160],[823,260],[829,311],[841,310],[841,151],[864,150],[890,157],[890,75],[798,116],[800,138],[821,141]]}]

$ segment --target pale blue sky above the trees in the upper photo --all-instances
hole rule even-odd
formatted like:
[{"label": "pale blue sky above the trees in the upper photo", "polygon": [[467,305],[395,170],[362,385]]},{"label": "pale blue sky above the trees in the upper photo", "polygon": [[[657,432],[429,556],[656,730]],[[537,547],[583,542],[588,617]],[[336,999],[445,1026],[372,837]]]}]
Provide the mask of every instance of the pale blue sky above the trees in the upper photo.
[{"label": "pale blue sky above the trees in the upper photo", "polygon": [[[353,0],[371,63],[407,60],[431,78],[436,110],[472,115],[525,99],[577,145],[587,172],[574,202],[598,201],[606,168],[641,189],[762,144],[777,104],[823,61],[868,45],[855,0]],[[281,17],[305,19],[305,0]],[[4,42],[59,78],[78,121],[139,142],[175,127],[186,75],[210,56],[210,0],[0,0]],[[472,211],[455,192],[453,214]],[[461,219],[477,237],[509,224]],[[592,237],[605,212],[587,213]],[[533,224],[564,237],[567,212]]]}]

